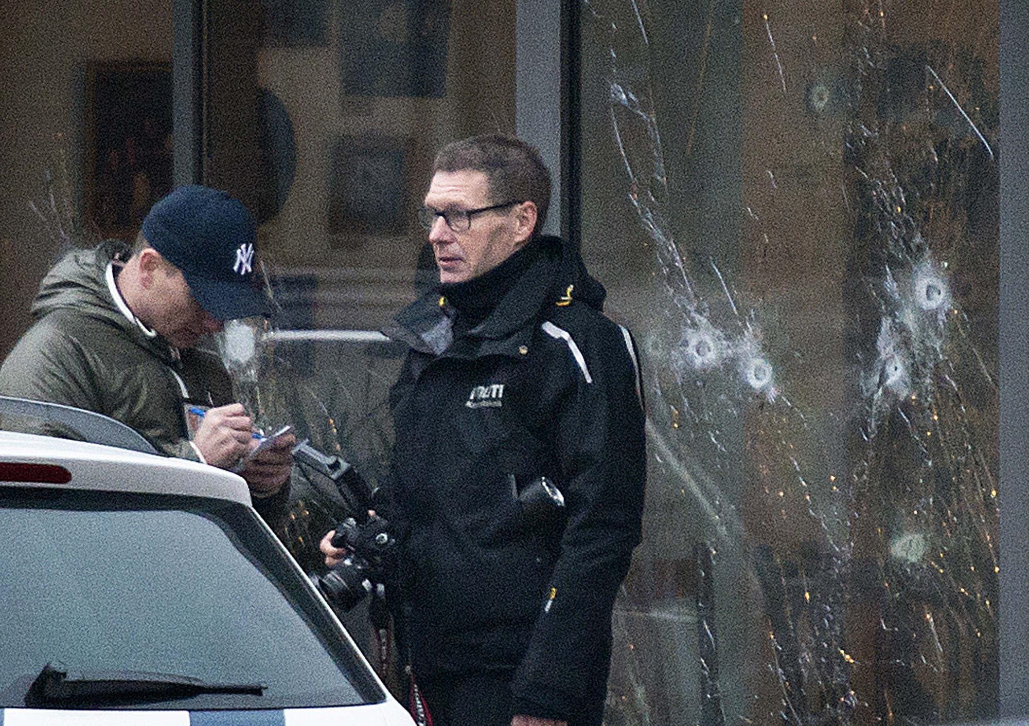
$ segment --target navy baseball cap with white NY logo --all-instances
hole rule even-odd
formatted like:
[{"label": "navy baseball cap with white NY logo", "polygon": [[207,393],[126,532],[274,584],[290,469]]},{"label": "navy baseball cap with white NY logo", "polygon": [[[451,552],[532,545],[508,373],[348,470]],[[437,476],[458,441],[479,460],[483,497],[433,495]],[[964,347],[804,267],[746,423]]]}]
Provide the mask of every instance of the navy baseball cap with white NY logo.
[{"label": "navy baseball cap with white NY logo", "polygon": [[218,320],[268,314],[254,271],[257,223],[239,199],[206,186],[180,186],[150,208],[142,231]]}]

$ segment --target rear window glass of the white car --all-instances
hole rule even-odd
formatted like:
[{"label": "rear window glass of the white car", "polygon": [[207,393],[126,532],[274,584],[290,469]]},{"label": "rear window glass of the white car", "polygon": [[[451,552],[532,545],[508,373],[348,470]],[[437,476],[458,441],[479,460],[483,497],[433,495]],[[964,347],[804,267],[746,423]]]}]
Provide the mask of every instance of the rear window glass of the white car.
[{"label": "rear window glass of the white car", "polygon": [[134,709],[385,697],[247,507],[0,486],[0,707],[24,706],[47,664],[263,686],[122,704]]}]

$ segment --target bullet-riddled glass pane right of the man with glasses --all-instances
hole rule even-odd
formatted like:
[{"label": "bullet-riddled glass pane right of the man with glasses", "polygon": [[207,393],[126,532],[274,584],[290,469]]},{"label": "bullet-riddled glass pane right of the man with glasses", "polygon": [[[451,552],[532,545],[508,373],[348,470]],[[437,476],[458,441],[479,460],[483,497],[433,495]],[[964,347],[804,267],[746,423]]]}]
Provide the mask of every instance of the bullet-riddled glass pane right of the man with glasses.
[{"label": "bullet-riddled glass pane right of the man with glasses", "polygon": [[643,344],[651,455],[607,723],[996,715],[972,5],[582,3],[582,246]]}]

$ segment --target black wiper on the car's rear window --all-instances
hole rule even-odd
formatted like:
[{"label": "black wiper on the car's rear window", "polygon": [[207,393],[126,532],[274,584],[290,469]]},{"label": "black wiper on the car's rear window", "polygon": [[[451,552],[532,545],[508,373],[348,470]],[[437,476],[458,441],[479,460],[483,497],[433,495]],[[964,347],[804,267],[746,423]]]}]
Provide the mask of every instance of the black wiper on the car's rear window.
[{"label": "black wiper on the car's rear window", "polygon": [[139,670],[80,670],[47,663],[25,694],[26,706],[79,706],[98,702],[129,702],[188,698],[201,693],[243,693],[262,695],[261,684],[207,683],[187,676]]}]

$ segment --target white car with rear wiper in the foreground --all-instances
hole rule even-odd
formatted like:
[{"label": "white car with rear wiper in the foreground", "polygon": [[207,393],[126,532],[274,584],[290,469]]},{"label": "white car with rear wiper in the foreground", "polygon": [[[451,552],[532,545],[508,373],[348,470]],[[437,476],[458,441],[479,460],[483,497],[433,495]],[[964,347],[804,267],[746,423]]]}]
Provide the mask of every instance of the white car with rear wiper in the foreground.
[{"label": "white car with rear wiper in the foreground", "polygon": [[0,726],[412,723],[235,474],[0,432]]}]

